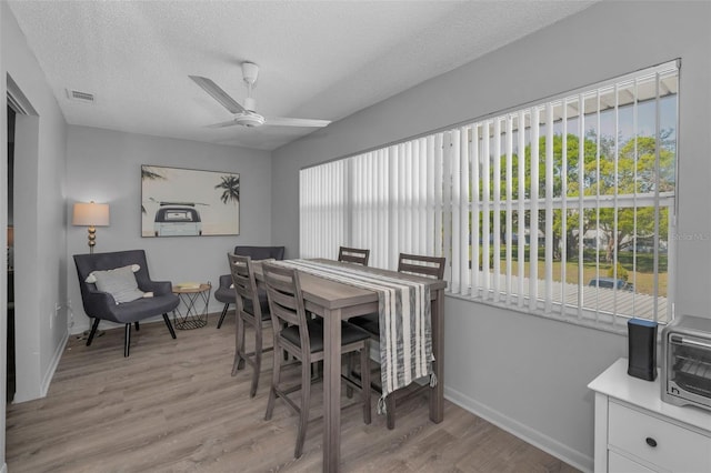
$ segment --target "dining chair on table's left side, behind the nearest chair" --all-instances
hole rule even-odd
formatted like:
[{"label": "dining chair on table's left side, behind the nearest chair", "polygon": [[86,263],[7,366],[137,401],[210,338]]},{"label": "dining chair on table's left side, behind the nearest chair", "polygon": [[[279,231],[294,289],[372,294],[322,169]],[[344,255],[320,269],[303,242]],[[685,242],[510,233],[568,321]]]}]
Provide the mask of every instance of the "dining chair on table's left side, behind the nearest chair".
[{"label": "dining chair on table's left side, behind the nearest chair", "polygon": [[[230,275],[237,301],[237,331],[234,333],[234,363],[232,364],[232,376],[244,368],[244,364],[252,366],[252,385],[249,391],[250,397],[257,394],[259,374],[262,366],[262,353],[272,350],[271,346],[263,348],[262,329],[271,321],[269,314],[269,301],[267,294],[257,290],[257,280],[252,269],[250,256],[239,256],[228,253],[230,263]],[[254,330],[254,351],[248,352],[244,343],[246,324]]]}]

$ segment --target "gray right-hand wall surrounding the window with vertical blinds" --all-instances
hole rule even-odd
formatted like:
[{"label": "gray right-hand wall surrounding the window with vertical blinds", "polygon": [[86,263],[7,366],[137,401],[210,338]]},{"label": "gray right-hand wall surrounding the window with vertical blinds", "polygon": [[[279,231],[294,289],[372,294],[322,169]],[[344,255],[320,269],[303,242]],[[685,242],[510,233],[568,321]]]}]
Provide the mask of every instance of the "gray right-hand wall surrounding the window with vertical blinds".
[{"label": "gray right-hand wall surrounding the window with vertical blinds", "polygon": [[[356,113],[273,154],[272,241],[299,250],[299,169],[682,59],[677,313],[711,316],[711,4],[602,2],[480,60]],[[587,383],[627,339],[448,298],[445,393],[591,470]]]}]

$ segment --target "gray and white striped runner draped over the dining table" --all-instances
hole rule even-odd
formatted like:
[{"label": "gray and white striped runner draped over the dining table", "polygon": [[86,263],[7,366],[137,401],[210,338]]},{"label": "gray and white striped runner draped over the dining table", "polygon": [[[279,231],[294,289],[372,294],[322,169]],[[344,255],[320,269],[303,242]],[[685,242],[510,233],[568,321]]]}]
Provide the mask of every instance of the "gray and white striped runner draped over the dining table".
[{"label": "gray and white striped runner draped over the dining table", "polygon": [[430,286],[398,276],[375,274],[359,266],[329,264],[309,260],[273,261],[319,278],[367,289],[378,293],[380,318],[380,365],[382,397],[378,412],[384,412],[384,399],[412,381],[429,376],[432,370],[432,320]]}]

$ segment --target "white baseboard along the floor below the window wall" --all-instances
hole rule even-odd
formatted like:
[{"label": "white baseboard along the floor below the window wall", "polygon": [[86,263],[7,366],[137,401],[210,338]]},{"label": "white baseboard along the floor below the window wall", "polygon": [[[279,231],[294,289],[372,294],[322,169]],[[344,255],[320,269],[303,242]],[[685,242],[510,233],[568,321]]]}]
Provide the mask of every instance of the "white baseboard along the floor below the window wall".
[{"label": "white baseboard along the floor below the window wall", "polygon": [[498,411],[490,409],[489,406],[481,404],[480,402],[464,395],[463,393],[444,386],[444,397],[448,401],[453,402],[460,407],[471,412],[472,414],[491,422],[495,426],[503,429],[512,435],[530,443],[531,445],[541,449],[542,451],[550,453],[557,459],[562,460],[571,466],[577,467],[583,472],[593,471],[592,456],[584,455],[575,450],[570,449],[567,445],[551,439],[548,435],[543,435],[540,432],[523,425],[522,423],[501,414]]}]

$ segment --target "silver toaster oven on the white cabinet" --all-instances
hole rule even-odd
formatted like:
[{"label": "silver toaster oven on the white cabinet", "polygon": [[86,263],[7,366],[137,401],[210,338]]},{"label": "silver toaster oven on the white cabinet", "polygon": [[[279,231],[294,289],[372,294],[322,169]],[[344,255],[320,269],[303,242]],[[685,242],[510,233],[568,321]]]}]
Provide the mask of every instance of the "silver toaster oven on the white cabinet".
[{"label": "silver toaster oven on the white cabinet", "polygon": [[662,330],[662,401],[711,410],[711,319],[682,315]]}]

